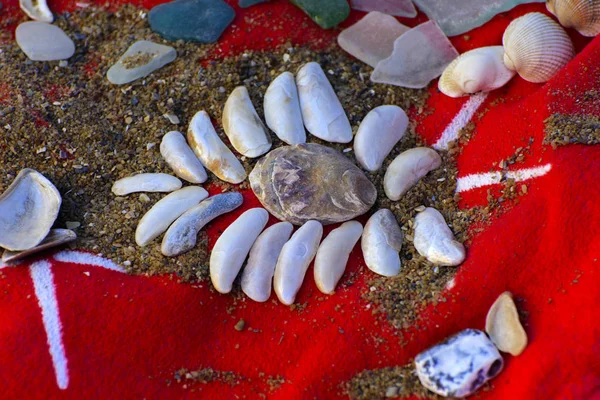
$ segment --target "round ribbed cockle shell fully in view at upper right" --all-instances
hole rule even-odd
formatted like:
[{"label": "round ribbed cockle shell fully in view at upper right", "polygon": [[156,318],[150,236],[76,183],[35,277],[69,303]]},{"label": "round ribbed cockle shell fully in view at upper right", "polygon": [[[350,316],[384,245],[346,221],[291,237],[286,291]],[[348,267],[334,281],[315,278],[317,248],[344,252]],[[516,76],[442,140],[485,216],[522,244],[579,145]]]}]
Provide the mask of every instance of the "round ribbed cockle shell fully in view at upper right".
[{"label": "round ribbed cockle shell fully in view at upper right", "polygon": [[513,20],[504,31],[504,64],[529,82],[546,82],[575,55],[565,30],[542,13]]}]

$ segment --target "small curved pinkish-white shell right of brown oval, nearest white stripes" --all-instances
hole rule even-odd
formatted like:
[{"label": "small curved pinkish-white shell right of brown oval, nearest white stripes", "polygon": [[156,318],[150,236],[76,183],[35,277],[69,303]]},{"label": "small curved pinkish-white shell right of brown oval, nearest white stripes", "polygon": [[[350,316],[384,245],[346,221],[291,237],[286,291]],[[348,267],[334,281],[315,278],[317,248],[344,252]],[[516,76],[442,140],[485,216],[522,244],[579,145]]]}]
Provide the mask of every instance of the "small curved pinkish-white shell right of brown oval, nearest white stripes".
[{"label": "small curved pinkish-white shell right of brown oval, nearest white stripes", "polygon": [[442,165],[441,157],[428,147],[415,147],[400,153],[385,171],[383,177],[385,195],[390,200],[400,200],[406,191],[440,165]]}]

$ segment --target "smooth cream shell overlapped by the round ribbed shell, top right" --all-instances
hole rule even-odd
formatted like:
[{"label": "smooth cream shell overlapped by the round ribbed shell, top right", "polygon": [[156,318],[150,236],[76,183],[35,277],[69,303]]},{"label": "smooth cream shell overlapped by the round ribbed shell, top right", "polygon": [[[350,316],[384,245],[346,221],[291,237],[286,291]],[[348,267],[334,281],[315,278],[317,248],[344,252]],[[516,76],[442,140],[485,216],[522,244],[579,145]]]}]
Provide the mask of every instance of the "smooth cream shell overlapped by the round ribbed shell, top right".
[{"label": "smooth cream shell overlapped by the round ribbed shell, top right", "polygon": [[461,54],[446,67],[438,88],[450,97],[489,92],[504,86],[515,71],[504,65],[504,47],[480,47]]}]

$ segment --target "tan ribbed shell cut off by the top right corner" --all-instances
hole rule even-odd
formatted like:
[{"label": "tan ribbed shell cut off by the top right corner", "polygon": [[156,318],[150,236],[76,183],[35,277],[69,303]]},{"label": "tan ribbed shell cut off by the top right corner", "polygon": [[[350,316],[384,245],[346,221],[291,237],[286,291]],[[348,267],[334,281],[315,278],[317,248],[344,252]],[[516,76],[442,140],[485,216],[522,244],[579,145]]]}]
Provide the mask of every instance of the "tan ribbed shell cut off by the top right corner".
[{"label": "tan ribbed shell cut off by the top right corner", "polygon": [[575,28],[583,36],[600,33],[600,2],[597,0],[548,0],[546,8],[565,28]]}]

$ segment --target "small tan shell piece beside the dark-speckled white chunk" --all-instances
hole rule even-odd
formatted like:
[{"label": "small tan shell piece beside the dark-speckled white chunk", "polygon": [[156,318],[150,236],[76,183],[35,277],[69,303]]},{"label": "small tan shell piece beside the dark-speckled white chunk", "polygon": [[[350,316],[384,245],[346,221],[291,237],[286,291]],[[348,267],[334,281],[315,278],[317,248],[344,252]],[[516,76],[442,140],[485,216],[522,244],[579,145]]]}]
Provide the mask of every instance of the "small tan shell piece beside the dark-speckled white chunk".
[{"label": "small tan shell piece beside the dark-speckled white chunk", "polygon": [[527,334],[510,292],[502,293],[492,304],[485,319],[485,331],[498,350],[505,353],[518,356],[527,347]]}]

